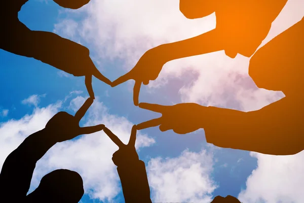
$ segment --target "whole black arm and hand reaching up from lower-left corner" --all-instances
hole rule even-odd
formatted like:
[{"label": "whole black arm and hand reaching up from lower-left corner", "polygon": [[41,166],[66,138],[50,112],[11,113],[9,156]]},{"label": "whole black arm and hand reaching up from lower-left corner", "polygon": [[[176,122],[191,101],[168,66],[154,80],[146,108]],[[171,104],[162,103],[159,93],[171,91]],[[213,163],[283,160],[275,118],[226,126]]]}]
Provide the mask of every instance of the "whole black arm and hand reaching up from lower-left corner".
[{"label": "whole black arm and hand reaching up from lower-left corner", "polygon": [[[0,174],[0,199],[7,197],[23,202],[28,192],[36,162],[56,143],[71,140],[80,134],[90,134],[103,129],[104,125],[80,127],[79,122],[92,105],[88,98],[74,116],[59,112],[46,127],[28,136],[5,160]],[[9,201],[5,201],[9,202]]]}]

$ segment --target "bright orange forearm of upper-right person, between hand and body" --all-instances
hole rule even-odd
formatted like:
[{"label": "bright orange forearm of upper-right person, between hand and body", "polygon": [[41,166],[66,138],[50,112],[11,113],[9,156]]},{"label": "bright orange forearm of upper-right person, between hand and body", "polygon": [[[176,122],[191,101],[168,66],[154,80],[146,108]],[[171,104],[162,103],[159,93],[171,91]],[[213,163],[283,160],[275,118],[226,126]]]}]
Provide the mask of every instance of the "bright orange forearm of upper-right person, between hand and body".
[{"label": "bright orange forearm of upper-right person, between hand and body", "polygon": [[216,29],[187,40],[163,44],[154,48],[165,63],[178,58],[196,56],[223,50],[223,43]]}]

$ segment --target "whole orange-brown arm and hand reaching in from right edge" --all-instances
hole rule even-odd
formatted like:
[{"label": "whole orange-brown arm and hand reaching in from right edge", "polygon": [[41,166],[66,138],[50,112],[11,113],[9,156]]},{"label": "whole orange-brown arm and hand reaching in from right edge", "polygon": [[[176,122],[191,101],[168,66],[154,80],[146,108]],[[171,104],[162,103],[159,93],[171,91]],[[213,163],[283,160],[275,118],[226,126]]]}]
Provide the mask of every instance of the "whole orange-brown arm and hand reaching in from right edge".
[{"label": "whole orange-brown arm and hand reaching in from right edge", "polygon": [[204,128],[208,143],[218,147],[291,155],[304,149],[303,99],[287,96],[258,111],[241,112],[195,103],[173,106],[140,103],[162,117],[137,124],[137,129],[159,126],[185,134]]}]

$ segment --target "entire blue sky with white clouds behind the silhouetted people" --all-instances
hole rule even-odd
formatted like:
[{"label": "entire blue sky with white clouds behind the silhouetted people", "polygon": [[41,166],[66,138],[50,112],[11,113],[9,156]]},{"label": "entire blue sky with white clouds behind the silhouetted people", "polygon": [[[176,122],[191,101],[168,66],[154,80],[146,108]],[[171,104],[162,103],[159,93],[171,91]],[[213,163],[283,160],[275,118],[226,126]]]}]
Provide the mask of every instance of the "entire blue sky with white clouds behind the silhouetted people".
[{"label": "entire blue sky with white clouds behind the silhouetted people", "polygon": [[[215,15],[189,20],[178,0],[95,0],[75,11],[52,1],[31,0],[19,19],[33,30],[53,31],[87,46],[98,69],[115,80],[132,69],[148,49],[200,35],[215,27]],[[303,0],[289,0],[264,45],[298,22]],[[261,46],[262,46],[261,45]],[[76,78],[32,58],[0,50],[0,167],[31,133],[42,129],[58,111],[74,114],[88,97],[84,78]],[[253,111],[284,97],[258,89],[248,76],[249,58],[224,52],[170,61],[159,78],[143,86],[140,101],[201,105]],[[133,124],[159,116],[134,107],[129,81],[115,88],[93,79],[97,95],[82,125],[105,124],[128,141]],[[248,203],[304,202],[304,153],[271,156],[222,149],[206,143],[204,130],[183,136],[157,127],[138,132],[136,147],[146,170],[154,202],[209,203],[233,195]],[[37,163],[32,191],[57,169],[81,174],[82,202],[123,202],[116,166],[118,149],[103,132],[56,144]]]}]

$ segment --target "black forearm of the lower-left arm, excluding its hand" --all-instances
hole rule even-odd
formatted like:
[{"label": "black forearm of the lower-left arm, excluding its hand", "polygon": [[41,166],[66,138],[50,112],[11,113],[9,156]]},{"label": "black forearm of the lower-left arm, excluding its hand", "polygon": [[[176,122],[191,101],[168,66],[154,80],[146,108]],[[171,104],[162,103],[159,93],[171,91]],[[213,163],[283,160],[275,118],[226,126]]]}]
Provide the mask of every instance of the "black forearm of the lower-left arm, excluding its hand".
[{"label": "black forearm of the lower-left arm, excluding its hand", "polygon": [[25,197],[36,162],[55,144],[54,137],[45,128],[28,136],[3,164],[0,174],[2,197],[15,200]]}]

